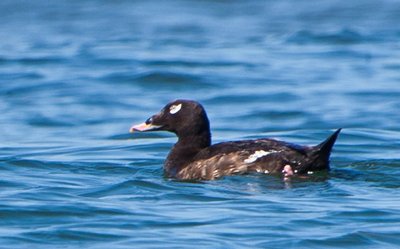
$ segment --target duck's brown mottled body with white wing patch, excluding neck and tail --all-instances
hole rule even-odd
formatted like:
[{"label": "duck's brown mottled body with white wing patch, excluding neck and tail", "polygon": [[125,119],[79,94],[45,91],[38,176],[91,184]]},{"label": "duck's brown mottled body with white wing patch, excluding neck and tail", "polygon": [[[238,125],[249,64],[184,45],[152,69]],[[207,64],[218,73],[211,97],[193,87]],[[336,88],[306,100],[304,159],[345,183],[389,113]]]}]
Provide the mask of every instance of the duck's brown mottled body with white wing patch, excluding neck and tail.
[{"label": "duck's brown mottled body with white wing patch, excluding neck and tail", "polygon": [[201,150],[177,178],[212,180],[250,172],[278,173],[287,164],[297,169],[309,163],[311,150],[267,138],[219,143]]}]

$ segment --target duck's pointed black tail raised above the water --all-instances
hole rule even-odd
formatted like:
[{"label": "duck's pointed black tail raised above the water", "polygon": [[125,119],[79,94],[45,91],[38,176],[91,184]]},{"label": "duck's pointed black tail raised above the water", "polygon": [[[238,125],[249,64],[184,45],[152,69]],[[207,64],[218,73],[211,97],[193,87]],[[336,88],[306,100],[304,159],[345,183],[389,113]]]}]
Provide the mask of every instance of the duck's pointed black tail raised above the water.
[{"label": "duck's pointed black tail raised above the water", "polygon": [[310,167],[307,171],[329,170],[329,156],[331,155],[332,147],[341,130],[341,128],[338,129],[325,141],[312,147],[309,152],[309,158],[311,159]]}]

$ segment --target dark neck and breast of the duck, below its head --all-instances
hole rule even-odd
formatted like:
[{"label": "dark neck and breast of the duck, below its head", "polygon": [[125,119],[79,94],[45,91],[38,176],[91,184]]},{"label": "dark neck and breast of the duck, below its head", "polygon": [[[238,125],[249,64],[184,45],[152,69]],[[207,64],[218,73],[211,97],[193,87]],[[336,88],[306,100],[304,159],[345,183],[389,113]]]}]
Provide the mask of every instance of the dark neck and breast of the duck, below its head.
[{"label": "dark neck and breast of the duck, below its head", "polygon": [[174,177],[179,170],[192,161],[199,151],[210,145],[210,130],[178,136],[178,142],[171,149],[164,164],[164,171],[167,176]]}]

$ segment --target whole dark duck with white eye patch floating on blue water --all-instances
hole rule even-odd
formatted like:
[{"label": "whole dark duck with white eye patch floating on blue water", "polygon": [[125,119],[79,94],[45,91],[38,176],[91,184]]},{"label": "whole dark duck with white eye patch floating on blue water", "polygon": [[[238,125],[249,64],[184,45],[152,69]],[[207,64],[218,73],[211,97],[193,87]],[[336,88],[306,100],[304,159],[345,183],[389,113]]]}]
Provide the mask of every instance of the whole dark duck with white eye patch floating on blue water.
[{"label": "whole dark duck with white eye patch floating on blue water", "polygon": [[341,129],[315,146],[272,138],[212,144],[204,107],[194,100],[177,99],[129,131],[174,133],[178,141],[164,162],[164,175],[177,180],[202,181],[250,173],[287,177],[329,171],[330,154]]}]

